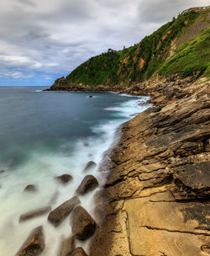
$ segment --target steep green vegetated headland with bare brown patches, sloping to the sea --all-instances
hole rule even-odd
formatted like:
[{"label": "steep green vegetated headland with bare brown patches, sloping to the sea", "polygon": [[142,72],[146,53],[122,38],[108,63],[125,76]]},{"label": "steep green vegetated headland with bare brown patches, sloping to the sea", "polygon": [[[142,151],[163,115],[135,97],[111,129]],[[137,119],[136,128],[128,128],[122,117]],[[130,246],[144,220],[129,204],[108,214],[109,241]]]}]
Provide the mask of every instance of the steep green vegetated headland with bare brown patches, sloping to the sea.
[{"label": "steep green vegetated headland with bare brown patches, sloping to the sea", "polygon": [[192,8],[163,25],[152,35],[122,51],[102,53],[81,64],[51,90],[97,89],[132,86],[155,74],[201,72],[210,74],[210,8]]}]

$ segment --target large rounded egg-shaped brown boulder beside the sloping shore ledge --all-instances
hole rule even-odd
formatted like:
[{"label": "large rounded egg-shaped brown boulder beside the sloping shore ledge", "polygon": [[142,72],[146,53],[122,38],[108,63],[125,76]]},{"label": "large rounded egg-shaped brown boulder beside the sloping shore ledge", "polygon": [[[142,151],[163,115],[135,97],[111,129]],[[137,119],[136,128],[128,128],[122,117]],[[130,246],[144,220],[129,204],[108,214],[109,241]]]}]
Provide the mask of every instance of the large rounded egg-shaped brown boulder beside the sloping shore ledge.
[{"label": "large rounded egg-shaped brown boulder beside the sloping shore ledge", "polygon": [[71,224],[73,236],[81,241],[91,237],[96,229],[96,222],[81,206],[77,206],[72,212]]}]

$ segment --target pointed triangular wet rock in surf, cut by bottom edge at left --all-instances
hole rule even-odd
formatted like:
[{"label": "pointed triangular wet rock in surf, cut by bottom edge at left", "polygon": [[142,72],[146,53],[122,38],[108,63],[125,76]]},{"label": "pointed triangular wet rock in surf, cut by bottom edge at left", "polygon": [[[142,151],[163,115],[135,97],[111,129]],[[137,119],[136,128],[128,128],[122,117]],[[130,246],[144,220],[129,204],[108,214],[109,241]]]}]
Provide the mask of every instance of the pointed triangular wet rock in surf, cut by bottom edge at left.
[{"label": "pointed triangular wet rock in surf, cut by bottom edge at left", "polygon": [[37,256],[45,249],[43,227],[36,227],[15,256]]}]

